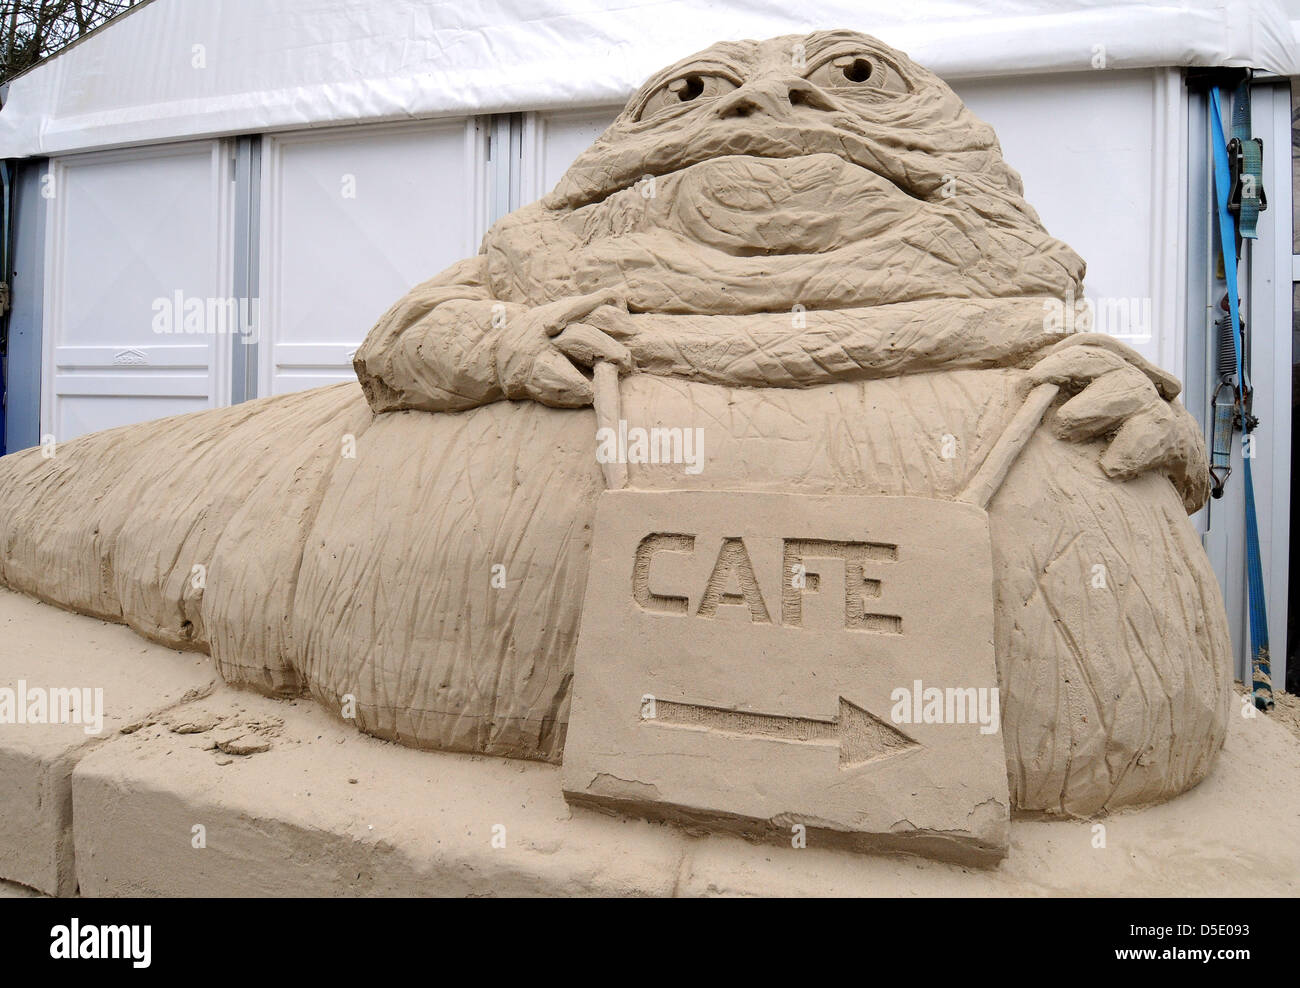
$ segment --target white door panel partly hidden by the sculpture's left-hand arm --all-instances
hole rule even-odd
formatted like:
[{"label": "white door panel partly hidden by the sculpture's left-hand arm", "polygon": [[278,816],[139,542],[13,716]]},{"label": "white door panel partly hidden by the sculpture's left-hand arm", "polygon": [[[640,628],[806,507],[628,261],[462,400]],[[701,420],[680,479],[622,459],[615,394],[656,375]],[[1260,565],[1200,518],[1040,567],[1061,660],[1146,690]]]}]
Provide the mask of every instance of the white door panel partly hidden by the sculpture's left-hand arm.
[{"label": "white door panel partly hidden by the sculpture's left-hand arm", "polygon": [[259,394],[355,380],[389,306],[477,252],[480,146],[464,117],[265,139]]}]

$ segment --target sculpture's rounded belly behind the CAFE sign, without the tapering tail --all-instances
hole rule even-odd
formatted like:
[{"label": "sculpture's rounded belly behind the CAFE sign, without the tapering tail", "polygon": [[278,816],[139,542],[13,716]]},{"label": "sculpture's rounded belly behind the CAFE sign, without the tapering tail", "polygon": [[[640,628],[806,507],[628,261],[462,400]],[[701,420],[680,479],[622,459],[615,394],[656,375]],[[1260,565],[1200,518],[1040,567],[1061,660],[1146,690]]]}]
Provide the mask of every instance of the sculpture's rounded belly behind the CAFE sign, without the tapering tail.
[{"label": "sculpture's rounded belly behind the CAFE sign, without the tapering tail", "polygon": [[[807,391],[630,378],[629,429],[703,430],[698,473],[632,463],[630,485],[952,497],[1017,385],[1001,370]],[[365,729],[408,744],[558,759],[602,488],[594,430],[590,412],[532,404],[381,416],[303,564],[313,689],[354,693]],[[1227,637],[1173,488],[1109,481],[1095,448],[1040,430],[989,514],[1017,806],[1091,812],[1199,780],[1222,740]]]}]

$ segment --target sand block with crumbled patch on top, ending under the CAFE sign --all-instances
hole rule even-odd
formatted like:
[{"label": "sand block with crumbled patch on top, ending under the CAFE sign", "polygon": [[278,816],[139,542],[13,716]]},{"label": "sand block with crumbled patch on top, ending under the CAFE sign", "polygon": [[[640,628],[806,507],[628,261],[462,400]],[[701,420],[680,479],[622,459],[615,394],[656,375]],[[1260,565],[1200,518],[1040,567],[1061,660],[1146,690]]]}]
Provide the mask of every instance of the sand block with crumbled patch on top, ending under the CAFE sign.
[{"label": "sand block with crumbled patch on top, ending under the CAFE sign", "polygon": [[[555,766],[417,751],[230,688],[169,722],[77,766],[82,894],[664,896],[677,880],[679,833],[572,810]],[[239,733],[260,742],[217,746]]]}]

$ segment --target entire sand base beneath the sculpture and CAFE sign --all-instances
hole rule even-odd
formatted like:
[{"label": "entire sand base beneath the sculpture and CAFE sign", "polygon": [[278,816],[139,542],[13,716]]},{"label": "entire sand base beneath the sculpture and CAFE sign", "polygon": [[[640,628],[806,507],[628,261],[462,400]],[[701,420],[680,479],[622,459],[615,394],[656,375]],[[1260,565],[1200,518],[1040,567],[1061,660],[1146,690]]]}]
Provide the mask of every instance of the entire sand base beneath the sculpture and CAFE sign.
[{"label": "entire sand base beneath the sculpture and CAFE sign", "polygon": [[[0,686],[103,686],[105,725],[0,724],[0,894],[1295,896],[1300,741],[1234,715],[1195,790],[1017,820],[992,870],[755,845],[569,807],[556,766],[415,751],[207,656],[0,590]],[[1247,711],[1242,705],[1242,711]]]}]

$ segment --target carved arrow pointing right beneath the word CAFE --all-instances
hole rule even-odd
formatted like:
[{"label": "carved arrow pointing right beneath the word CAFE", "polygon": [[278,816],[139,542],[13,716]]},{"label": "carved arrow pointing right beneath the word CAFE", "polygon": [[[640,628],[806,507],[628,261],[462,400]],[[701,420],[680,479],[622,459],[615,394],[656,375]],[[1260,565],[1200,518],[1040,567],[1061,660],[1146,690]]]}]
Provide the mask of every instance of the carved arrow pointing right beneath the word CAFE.
[{"label": "carved arrow pointing right beneath the word CAFE", "polygon": [[741,737],[768,737],[774,741],[801,745],[835,744],[840,748],[840,768],[853,768],[863,762],[919,748],[918,741],[844,697],[840,697],[840,715],[832,720],[750,714],[744,710],[676,703],[668,699],[655,699],[654,716],[646,716],[647,710],[650,705],[644,703],[642,722],[658,727],[716,731]]}]

